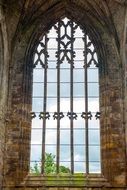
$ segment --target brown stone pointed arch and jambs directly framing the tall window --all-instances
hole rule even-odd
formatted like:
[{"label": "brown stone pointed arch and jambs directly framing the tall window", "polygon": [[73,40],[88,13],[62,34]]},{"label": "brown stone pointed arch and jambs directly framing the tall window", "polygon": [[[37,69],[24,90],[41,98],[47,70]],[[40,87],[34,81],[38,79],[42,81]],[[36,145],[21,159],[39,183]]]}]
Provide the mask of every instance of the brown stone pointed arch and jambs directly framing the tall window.
[{"label": "brown stone pointed arch and jambs directly framing the tall window", "polygon": [[[96,5],[95,7],[98,5],[93,3],[90,4],[88,1],[85,4],[83,1],[73,4],[70,1],[57,2],[49,9],[46,9],[45,6],[40,7],[33,17],[31,14],[34,11],[30,8],[28,18],[25,18],[27,16],[25,13],[24,17],[21,17],[17,36],[13,41],[11,60],[9,97],[11,114],[7,125],[8,151],[5,166],[7,184],[19,184],[28,174],[29,111],[31,108],[31,68],[29,65],[33,48],[36,46],[38,38],[65,15],[87,28],[98,48],[99,61],[103,62],[103,67],[100,69],[102,172],[110,184],[123,186],[125,184],[125,144],[122,124],[123,87],[119,43],[115,28],[113,25],[111,26],[112,20],[104,19],[102,12],[99,12],[98,15],[98,11],[93,9],[93,5]],[[101,20],[101,18],[103,19]],[[14,178],[15,175],[16,178]]]}]

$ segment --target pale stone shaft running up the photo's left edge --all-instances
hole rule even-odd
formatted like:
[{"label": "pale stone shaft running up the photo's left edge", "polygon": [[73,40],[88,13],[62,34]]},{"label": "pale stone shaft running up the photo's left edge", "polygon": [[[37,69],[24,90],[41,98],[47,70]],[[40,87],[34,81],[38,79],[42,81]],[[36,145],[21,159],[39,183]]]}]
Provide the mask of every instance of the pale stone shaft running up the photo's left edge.
[{"label": "pale stone shaft running up the photo's left edge", "polygon": [[0,188],[4,178],[4,156],[7,122],[9,46],[3,6],[0,4]]}]

